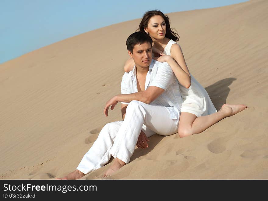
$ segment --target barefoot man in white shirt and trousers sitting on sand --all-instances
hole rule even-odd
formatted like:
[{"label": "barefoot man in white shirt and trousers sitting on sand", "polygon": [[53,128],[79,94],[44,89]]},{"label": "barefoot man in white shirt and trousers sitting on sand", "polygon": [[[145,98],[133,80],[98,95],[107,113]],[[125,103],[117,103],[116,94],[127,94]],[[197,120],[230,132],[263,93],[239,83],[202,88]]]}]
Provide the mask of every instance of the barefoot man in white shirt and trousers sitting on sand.
[{"label": "barefoot man in white shirt and trousers sitting on sand", "polygon": [[115,160],[103,175],[109,176],[129,163],[136,145],[148,147],[147,137],[178,131],[182,97],[170,66],[152,59],[152,39],[147,34],[131,34],[126,45],[135,66],[123,75],[122,94],[112,97],[104,108],[108,116],[109,107],[114,109],[121,102],[123,121],[106,124],[77,169],[60,179],[79,179],[113,156]]}]

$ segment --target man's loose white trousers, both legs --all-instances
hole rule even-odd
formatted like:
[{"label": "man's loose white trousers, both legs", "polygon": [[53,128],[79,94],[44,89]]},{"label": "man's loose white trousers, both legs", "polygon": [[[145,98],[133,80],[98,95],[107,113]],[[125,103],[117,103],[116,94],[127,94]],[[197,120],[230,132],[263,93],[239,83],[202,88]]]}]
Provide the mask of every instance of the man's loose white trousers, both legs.
[{"label": "man's loose white trousers, both legs", "polygon": [[[178,113],[179,119],[178,109],[171,109]],[[178,119],[171,119],[168,109],[164,106],[131,101],[127,106],[124,121],[106,124],[76,169],[87,174],[104,166],[111,156],[129,163],[141,130],[147,137],[155,133],[172,135],[178,132]]]}]

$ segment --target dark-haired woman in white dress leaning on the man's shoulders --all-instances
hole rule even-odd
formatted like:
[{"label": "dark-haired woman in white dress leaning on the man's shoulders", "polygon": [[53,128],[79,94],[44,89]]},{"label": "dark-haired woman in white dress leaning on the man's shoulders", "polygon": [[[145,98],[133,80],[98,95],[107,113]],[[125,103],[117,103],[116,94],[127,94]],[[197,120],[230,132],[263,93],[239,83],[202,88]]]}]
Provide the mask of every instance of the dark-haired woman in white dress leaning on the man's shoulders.
[{"label": "dark-haired woman in white dress leaning on the man's shoulders", "polygon": [[[223,118],[247,108],[245,105],[224,104],[217,112],[206,90],[189,73],[182,49],[176,43],[179,35],[170,28],[168,16],[159,10],[148,11],[143,15],[138,30],[150,35],[153,40],[153,52],[159,55],[154,59],[167,62],[178,79],[183,98],[178,125],[178,134],[181,138],[201,133]],[[125,72],[131,71],[134,65],[133,59],[128,59],[124,66]],[[139,142],[138,147],[142,147],[138,145],[140,143],[147,144]]]}]

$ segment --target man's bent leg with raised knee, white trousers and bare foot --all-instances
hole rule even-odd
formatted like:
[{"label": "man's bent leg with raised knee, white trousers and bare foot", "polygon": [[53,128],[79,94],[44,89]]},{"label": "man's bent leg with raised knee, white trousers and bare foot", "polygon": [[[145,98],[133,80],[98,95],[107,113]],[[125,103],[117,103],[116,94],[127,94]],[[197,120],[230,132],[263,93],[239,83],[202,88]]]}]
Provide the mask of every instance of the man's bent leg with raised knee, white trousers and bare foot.
[{"label": "man's bent leg with raised knee, white trousers and bare foot", "polygon": [[[177,110],[174,109],[174,111]],[[125,119],[109,152],[116,160],[104,173],[104,176],[111,175],[124,164],[129,163],[143,124],[157,134],[172,135],[177,133],[177,120],[170,118],[170,114],[164,106],[131,101],[127,107]]]}]

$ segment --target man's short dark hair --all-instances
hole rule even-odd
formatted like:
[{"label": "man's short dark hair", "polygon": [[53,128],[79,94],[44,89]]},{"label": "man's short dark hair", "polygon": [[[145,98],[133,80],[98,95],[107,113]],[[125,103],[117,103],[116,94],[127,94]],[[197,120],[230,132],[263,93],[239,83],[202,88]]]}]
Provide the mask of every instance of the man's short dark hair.
[{"label": "man's short dark hair", "polygon": [[145,34],[141,31],[134,32],[126,41],[127,49],[133,54],[134,46],[137,44],[143,44],[145,42],[149,42],[152,45],[153,40],[148,34]]}]

